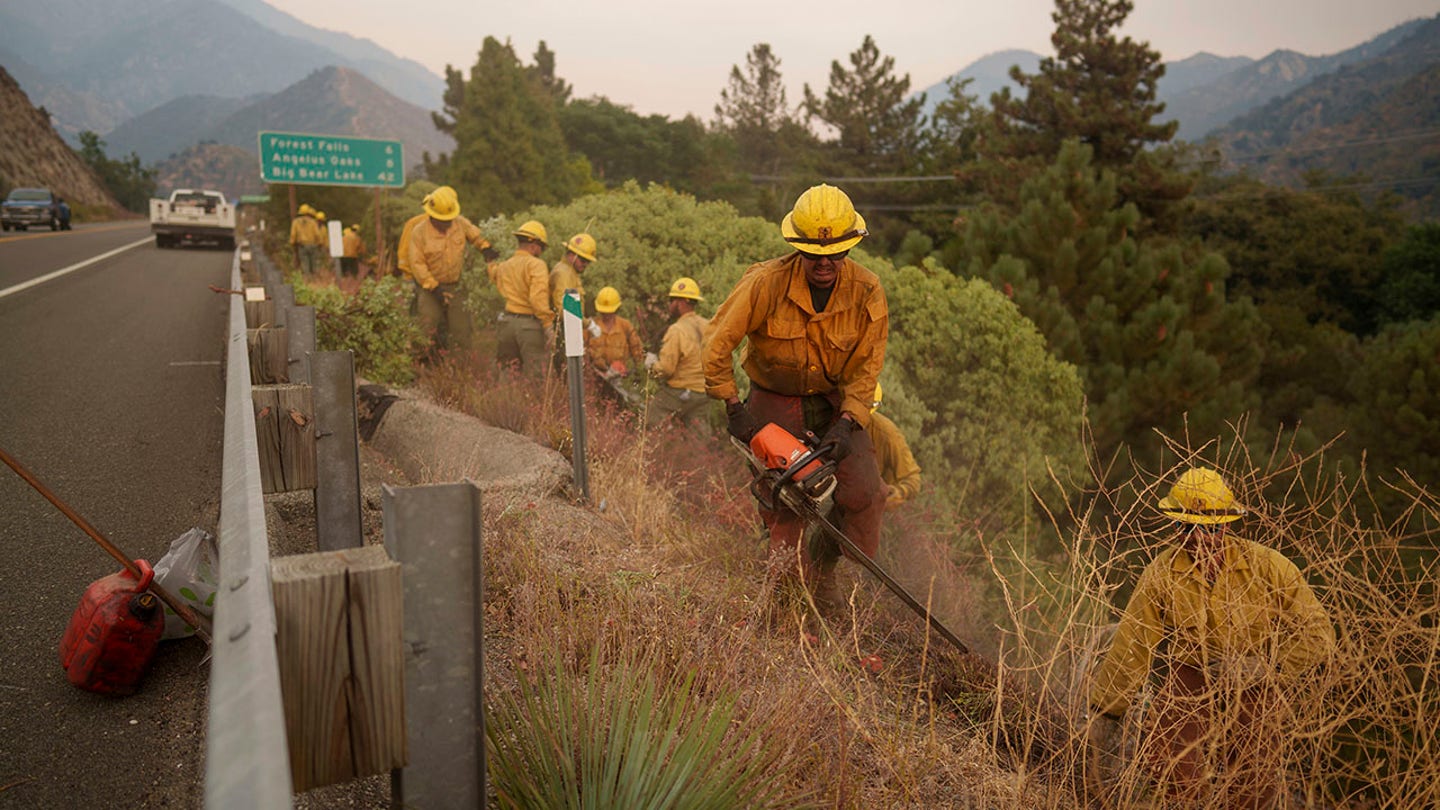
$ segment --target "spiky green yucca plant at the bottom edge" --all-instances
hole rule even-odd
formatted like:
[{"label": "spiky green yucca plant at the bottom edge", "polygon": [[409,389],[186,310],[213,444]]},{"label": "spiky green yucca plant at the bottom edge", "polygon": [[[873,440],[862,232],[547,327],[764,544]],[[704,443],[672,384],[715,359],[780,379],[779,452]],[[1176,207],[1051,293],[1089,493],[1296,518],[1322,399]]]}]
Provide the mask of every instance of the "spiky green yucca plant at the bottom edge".
[{"label": "spiky green yucca plant at the bottom edge", "polygon": [[491,785],[503,807],[732,809],[804,806],[786,793],[763,722],[732,695],[664,679],[639,656],[596,649],[583,673],[562,656],[487,702]]}]

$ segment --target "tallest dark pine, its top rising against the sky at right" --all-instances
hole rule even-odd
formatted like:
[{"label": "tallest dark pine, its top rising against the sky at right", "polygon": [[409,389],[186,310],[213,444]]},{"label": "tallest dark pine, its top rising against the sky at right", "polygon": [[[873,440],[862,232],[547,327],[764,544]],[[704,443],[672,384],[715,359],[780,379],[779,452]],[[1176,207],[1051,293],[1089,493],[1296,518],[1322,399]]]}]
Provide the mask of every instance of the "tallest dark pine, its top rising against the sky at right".
[{"label": "tallest dark pine, its top rising against the sky at right", "polygon": [[1178,123],[1155,123],[1165,111],[1155,101],[1165,75],[1159,52],[1116,35],[1132,10],[1130,0],[1056,0],[1056,56],[1043,59],[1035,75],[1011,69],[1021,98],[1008,88],[991,98],[986,153],[995,163],[982,172],[996,199],[1076,138],[1092,148],[1096,166],[1116,173],[1122,200],[1136,205],[1145,229],[1174,228],[1172,206],[1194,179],[1178,169],[1174,150],[1155,148],[1175,137]]}]

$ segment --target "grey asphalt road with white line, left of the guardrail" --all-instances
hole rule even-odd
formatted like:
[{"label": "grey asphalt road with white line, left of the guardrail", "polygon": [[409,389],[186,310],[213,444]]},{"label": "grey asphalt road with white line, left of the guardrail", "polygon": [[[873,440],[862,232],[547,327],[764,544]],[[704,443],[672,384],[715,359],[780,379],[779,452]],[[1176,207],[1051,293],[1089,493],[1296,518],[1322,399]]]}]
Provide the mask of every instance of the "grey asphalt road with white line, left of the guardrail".
[{"label": "grey asphalt road with white line, left of the guardrail", "polygon": [[[0,448],[154,562],[216,530],[228,301],[207,285],[228,285],[230,254],[147,238],[144,222],[0,236]],[[0,464],[0,809],[202,806],[202,641],[163,643],[130,698],[60,669],[81,594],[118,569]]]}]

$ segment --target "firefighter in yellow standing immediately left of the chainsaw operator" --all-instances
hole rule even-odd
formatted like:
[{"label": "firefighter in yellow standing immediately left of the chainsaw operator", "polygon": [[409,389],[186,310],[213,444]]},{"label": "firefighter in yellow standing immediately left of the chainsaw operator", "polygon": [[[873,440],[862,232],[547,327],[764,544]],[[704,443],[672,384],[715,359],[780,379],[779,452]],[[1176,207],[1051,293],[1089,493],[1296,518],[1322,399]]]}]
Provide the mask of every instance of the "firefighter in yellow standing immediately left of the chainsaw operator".
[{"label": "firefighter in yellow standing immediately left of the chainsaw operator", "polygon": [[674,323],[665,330],[660,355],[649,366],[649,373],[660,379],[645,414],[645,424],[652,428],[670,417],[693,425],[704,419],[710,405],[701,366],[701,347],[710,321],[696,311],[700,301],[704,298],[694,278],[677,278],[670,285],[670,317]]}]

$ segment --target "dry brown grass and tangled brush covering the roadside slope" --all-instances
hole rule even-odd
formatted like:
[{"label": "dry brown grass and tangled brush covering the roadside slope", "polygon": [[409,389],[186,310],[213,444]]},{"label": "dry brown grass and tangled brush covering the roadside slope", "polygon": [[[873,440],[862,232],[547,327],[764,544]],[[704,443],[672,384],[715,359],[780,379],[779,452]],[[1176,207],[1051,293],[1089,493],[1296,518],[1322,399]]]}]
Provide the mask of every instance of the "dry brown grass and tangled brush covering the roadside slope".
[{"label": "dry brown grass and tangled brush covering the roadside slope", "polygon": [[[487,363],[454,360],[420,383],[567,450],[563,383],[531,389]],[[1056,516],[1070,538],[1058,561],[1034,561],[999,538],[962,543],[939,500],[897,513],[883,564],[985,653],[966,657],[850,564],[844,617],[819,621],[802,592],[768,589],[749,479],[726,442],[647,431],[631,414],[588,406],[592,503],[603,509],[553,499],[485,507],[491,711],[523,685],[569,679],[579,696],[596,667],[639,662],[657,683],[691,683],[693,711],[733,706],[733,734],[763,729],[756,755],[776,793],[760,804],[1162,804],[1143,757],[1110,773],[1103,797],[1087,796],[1094,758],[1079,696],[1116,591],[1128,592],[1168,540],[1149,504],[1174,468],[1073,497],[1076,512]],[[1355,517],[1364,483],[1332,477],[1320,457],[1175,453],[1174,467],[1205,463],[1227,474],[1254,507],[1244,533],[1302,564],[1339,630],[1335,662],[1287,695],[1274,749],[1289,804],[1440,803],[1440,631],[1434,569],[1421,562],[1433,536],[1398,530],[1433,530],[1440,504],[1400,480],[1392,486],[1411,502],[1404,520],[1367,528]],[[1130,728],[1143,731],[1143,721]],[[1221,787],[1207,800],[1218,807],[1225,774],[1214,775]]]}]

